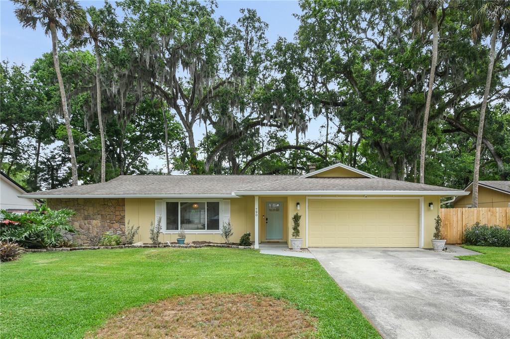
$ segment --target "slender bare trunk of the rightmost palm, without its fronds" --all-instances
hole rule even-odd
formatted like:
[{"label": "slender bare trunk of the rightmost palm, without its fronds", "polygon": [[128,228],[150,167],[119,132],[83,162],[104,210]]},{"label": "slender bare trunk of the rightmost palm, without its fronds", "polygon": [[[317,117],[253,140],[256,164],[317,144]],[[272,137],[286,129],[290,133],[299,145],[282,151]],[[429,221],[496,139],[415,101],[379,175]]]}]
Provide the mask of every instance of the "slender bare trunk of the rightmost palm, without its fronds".
[{"label": "slender bare trunk of the rightmost palm, without its fronds", "polygon": [[473,171],[473,207],[478,207],[478,178],[480,175],[480,156],[481,156],[481,143],[483,137],[483,125],[485,123],[485,110],[487,109],[487,99],[491,91],[492,70],[494,69],[494,53],[496,49],[496,39],[499,31],[499,19],[494,22],[491,37],[491,54],[489,59],[489,68],[487,70],[487,81],[485,83],[485,93],[483,93],[483,101],[480,107],[480,122],[478,123],[478,134],[476,136],[476,155],[475,167]]}]

